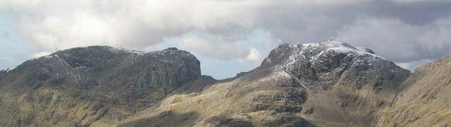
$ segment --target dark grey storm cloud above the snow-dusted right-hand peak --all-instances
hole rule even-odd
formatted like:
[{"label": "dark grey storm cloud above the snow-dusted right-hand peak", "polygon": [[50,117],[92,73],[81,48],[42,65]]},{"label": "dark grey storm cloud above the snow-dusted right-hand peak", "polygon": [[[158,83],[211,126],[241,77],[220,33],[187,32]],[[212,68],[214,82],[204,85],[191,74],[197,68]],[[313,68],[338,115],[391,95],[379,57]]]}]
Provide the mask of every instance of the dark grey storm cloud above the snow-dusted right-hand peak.
[{"label": "dark grey storm cloud above the snow-dusted right-hand peak", "polygon": [[450,1],[287,2],[261,12],[259,26],[285,42],[338,39],[402,63],[451,53]]}]

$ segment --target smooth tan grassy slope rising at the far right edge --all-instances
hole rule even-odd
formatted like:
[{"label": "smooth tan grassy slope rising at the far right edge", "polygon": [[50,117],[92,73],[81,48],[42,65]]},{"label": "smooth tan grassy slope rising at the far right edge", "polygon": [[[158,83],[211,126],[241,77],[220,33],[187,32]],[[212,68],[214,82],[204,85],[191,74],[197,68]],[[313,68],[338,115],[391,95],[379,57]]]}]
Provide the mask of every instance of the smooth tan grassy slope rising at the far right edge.
[{"label": "smooth tan grassy slope rising at the far right edge", "polygon": [[416,68],[376,126],[451,126],[451,56]]}]

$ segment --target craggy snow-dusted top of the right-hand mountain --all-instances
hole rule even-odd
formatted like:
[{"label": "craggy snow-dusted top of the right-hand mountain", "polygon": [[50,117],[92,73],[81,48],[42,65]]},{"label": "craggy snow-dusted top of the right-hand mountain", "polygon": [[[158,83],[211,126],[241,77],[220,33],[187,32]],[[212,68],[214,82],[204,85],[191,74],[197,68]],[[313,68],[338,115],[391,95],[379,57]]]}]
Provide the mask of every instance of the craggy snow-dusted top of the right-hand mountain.
[{"label": "craggy snow-dusted top of the right-hand mountain", "polygon": [[[340,78],[344,73],[354,73],[349,75],[400,73],[402,76],[409,73],[395,63],[374,54],[371,49],[352,47],[350,44],[332,40],[307,44],[280,44],[261,63],[261,68],[271,68],[278,75],[299,80],[300,85],[307,91],[317,89],[318,86],[313,85],[317,83],[332,85],[333,82],[326,80]],[[392,75],[388,75],[390,76]]]}]

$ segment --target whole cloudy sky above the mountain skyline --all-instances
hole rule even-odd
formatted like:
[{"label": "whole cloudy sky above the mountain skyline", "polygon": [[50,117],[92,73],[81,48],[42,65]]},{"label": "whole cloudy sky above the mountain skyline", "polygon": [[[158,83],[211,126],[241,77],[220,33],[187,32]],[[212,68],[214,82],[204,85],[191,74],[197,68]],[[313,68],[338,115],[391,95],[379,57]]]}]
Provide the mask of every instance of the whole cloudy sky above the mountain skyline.
[{"label": "whole cloudy sky above the mountain skyline", "polygon": [[449,0],[0,0],[0,68],[71,47],[178,47],[230,78],[278,44],[337,40],[413,70],[451,55]]}]

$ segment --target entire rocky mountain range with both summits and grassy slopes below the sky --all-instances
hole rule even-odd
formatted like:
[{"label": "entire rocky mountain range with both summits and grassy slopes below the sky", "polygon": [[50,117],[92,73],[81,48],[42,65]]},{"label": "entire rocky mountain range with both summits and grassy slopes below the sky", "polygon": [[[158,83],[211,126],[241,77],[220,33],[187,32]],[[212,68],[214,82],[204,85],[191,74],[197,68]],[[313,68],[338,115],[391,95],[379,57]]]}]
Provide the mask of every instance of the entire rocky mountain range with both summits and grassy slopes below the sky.
[{"label": "entire rocky mountain range with both summits and grassy slopes below the sky", "polygon": [[93,46],[0,71],[0,126],[451,126],[450,58],[414,73],[371,49],[280,44],[233,78],[189,52]]}]

